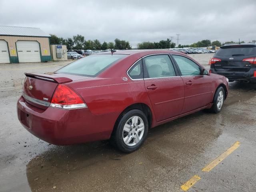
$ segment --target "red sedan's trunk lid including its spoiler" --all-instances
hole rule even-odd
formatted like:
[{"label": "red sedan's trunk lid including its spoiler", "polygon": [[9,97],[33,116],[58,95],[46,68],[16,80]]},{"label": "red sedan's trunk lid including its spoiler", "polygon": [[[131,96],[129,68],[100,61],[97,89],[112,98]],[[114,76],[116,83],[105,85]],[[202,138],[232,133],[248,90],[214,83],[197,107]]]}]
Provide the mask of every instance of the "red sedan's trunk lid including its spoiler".
[{"label": "red sedan's trunk lid including its spoiler", "polygon": [[25,73],[22,88],[22,96],[29,104],[41,109],[50,106],[54,91],[58,84],[65,84],[75,80],[90,78],[85,76],[75,76],[67,74],[38,74]]}]

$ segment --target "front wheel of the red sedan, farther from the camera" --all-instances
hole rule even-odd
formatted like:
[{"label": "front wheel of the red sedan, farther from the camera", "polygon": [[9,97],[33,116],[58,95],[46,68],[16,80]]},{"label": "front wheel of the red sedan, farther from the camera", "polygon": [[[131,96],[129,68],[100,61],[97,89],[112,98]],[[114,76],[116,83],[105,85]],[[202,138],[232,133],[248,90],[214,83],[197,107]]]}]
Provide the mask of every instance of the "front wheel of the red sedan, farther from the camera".
[{"label": "front wheel of the red sedan, farther from the camera", "polygon": [[222,109],[225,98],[225,90],[223,87],[219,87],[214,95],[213,105],[210,108],[210,111],[213,113],[219,113]]}]

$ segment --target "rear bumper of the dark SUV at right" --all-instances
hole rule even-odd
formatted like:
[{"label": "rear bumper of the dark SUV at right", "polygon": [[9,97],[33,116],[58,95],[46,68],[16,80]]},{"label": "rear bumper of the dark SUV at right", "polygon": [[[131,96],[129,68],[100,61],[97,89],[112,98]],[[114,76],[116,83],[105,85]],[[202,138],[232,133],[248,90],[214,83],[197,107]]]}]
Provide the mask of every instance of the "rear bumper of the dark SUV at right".
[{"label": "rear bumper of the dark SUV at right", "polygon": [[231,81],[249,80],[256,82],[256,77],[254,77],[254,71],[256,71],[256,68],[251,68],[248,72],[224,72],[216,71],[214,68],[211,68],[210,70],[212,70],[212,73],[223,75]]}]

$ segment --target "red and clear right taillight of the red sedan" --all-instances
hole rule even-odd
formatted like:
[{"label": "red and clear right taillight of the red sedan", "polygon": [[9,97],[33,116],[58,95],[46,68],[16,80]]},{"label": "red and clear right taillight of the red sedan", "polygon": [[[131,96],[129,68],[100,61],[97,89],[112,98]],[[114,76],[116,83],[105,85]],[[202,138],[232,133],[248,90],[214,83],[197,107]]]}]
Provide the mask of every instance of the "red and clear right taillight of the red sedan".
[{"label": "red and clear right taillight of the red sedan", "polygon": [[87,108],[82,98],[74,90],[62,84],[57,86],[50,106],[61,109]]}]

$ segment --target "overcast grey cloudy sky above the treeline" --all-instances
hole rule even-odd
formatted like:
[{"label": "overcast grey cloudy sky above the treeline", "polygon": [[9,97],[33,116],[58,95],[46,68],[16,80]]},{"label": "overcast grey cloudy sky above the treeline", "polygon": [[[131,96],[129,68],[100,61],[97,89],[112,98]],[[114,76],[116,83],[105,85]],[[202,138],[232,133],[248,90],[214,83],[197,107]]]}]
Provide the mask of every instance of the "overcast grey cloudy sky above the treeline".
[{"label": "overcast grey cloudy sky above the treeline", "polygon": [[0,0],[0,25],[41,28],[68,38],[115,38],[133,47],[172,38],[256,40],[256,0]]}]

